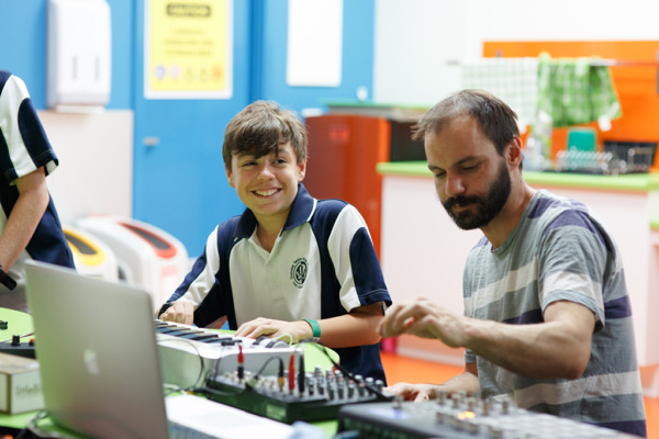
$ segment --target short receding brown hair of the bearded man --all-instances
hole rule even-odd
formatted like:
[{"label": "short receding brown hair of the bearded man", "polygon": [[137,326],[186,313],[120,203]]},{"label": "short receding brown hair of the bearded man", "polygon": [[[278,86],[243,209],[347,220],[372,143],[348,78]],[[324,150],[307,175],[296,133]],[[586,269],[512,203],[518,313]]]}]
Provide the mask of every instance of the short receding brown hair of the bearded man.
[{"label": "short receding brown hair of the bearded man", "polygon": [[426,134],[440,132],[460,116],[476,117],[500,155],[513,137],[520,136],[517,114],[505,102],[483,90],[462,90],[428,110],[412,128],[412,138],[422,140]]}]

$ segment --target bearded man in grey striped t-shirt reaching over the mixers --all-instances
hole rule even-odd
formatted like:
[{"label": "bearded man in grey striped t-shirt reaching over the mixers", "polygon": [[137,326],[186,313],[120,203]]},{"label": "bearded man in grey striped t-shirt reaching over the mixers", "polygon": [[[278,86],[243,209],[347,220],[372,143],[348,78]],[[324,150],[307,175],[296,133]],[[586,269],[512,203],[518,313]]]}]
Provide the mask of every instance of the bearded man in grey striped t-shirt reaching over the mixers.
[{"label": "bearded man in grey striped t-shirt reaching over the mixers", "polygon": [[466,348],[463,373],[388,390],[414,401],[460,390],[512,397],[526,409],[645,436],[625,272],[604,225],[584,204],[526,184],[516,115],[488,92],[450,95],[414,136],[449,216],[484,236],[465,267],[465,315],[417,299],[389,308],[379,326],[383,337]]}]

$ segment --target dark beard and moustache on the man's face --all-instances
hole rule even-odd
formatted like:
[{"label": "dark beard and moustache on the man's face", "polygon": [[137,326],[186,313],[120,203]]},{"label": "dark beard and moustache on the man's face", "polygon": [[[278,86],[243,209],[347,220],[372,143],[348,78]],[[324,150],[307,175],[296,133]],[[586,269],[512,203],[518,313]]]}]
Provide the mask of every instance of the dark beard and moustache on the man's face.
[{"label": "dark beard and moustache on the man's face", "polygon": [[[511,194],[511,175],[507,170],[505,160],[501,160],[499,176],[492,183],[490,191],[485,196],[451,196],[444,202],[444,209],[448,215],[457,224],[458,227],[465,230],[482,227],[489,224],[499,212]],[[454,212],[454,206],[471,205],[477,212],[471,213],[470,210],[462,212]]]}]

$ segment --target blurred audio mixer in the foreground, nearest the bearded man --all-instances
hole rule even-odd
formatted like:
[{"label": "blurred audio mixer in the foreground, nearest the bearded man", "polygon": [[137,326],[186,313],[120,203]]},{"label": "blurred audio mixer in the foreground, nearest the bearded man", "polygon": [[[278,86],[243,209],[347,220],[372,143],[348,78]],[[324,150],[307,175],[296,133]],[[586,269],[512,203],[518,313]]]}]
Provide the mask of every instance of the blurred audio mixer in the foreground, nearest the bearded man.
[{"label": "blurred audio mixer in the foreground, nearest the bearded man", "polygon": [[436,401],[356,404],[338,414],[338,431],[360,438],[448,439],[608,439],[636,438],[554,415],[515,407],[510,401],[467,397]]}]

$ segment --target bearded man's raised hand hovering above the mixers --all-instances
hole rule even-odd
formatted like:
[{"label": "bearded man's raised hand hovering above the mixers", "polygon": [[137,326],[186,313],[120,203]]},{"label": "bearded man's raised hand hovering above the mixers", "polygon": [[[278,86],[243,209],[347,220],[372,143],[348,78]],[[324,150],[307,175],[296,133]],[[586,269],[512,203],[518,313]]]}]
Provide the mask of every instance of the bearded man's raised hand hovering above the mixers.
[{"label": "bearded man's raised hand hovering above the mixers", "polygon": [[413,334],[423,338],[436,338],[457,348],[463,347],[467,341],[466,325],[465,316],[454,314],[425,297],[417,297],[387,309],[378,331],[382,337]]}]

